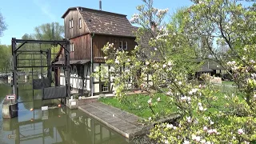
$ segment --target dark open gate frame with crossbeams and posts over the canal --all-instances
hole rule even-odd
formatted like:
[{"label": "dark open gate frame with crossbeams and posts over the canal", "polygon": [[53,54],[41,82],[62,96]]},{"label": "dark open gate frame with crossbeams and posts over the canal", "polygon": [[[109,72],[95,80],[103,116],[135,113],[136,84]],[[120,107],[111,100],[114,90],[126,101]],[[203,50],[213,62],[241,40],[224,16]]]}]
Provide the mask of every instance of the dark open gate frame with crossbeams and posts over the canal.
[{"label": "dark open gate frame with crossbeams and posts over the canal", "polygon": [[[43,41],[43,40],[24,40],[24,39],[16,39],[12,38],[11,41],[11,46],[12,46],[12,55],[13,55],[13,92],[17,96],[18,99],[18,68],[34,68],[34,67],[40,67],[44,68],[47,67],[48,74],[47,77],[51,77],[51,70],[52,68],[59,68],[59,67],[66,67],[66,97],[70,98],[70,41],[68,39],[63,39],[63,41]],[[17,47],[17,44],[21,43],[20,46]],[[62,66],[56,66],[53,65],[53,62],[51,62],[51,54],[50,50],[20,50],[22,46],[24,46],[26,43],[35,43],[35,44],[50,44],[54,46],[61,46],[64,50],[64,57],[65,57],[65,62],[64,65]],[[39,53],[41,55],[41,65],[40,66],[18,66],[18,53],[19,54],[35,54]],[[47,66],[42,66],[42,54],[46,54],[47,57]],[[41,70],[42,73],[42,70]],[[44,87],[42,86],[42,90]],[[42,96],[43,97],[43,96]]]}]

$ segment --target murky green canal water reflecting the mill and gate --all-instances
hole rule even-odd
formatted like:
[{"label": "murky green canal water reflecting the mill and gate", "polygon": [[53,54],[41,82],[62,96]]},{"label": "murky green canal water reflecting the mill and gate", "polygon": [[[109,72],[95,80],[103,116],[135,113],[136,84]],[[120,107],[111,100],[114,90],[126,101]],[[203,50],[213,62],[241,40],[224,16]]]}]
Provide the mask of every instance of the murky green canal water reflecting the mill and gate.
[{"label": "murky green canal water reflecting the mill and gate", "polygon": [[[0,144],[125,144],[120,134],[90,118],[80,110],[66,106],[41,110],[42,106],[58,107],[58,101],[41,101],[40,90],[19,86],[18,118],[2,118],[2,100],[11,87],[0,84]],[[34,110],[30,110],[34,109]]]}]

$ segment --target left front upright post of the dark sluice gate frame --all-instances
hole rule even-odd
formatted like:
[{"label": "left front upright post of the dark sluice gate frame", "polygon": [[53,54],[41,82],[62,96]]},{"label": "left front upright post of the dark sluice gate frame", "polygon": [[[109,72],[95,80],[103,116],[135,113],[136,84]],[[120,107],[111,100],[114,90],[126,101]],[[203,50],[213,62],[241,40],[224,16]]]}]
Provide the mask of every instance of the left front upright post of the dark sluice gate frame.
[{"label": "left front upright post of the dark sluice gate frame", "polygon": [[11,40],[12,54],[13,54],[13,88],[14,94],[18,100],[18,86],[17,86],[17,52],[16,50],[16,38],[12,38]]}]

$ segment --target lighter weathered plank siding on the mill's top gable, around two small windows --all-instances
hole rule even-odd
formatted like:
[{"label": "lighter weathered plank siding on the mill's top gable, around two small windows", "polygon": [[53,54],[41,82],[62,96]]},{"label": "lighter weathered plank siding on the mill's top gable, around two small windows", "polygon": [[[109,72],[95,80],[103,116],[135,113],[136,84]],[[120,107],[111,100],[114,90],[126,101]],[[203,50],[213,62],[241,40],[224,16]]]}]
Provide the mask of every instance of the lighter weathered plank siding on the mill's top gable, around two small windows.
[{"label": "lighter weathered plank siding on the mill's top gable, around two small windows", "polygon": [[[77,38],[81,35],[88,34],[89,30],[82,18],[82,28],[79,27],[79,18],[82,18],[78,10],[70,10],[64,18],[65,38]],[[70,28],[70,20],[73,19],[73,28]]]}]

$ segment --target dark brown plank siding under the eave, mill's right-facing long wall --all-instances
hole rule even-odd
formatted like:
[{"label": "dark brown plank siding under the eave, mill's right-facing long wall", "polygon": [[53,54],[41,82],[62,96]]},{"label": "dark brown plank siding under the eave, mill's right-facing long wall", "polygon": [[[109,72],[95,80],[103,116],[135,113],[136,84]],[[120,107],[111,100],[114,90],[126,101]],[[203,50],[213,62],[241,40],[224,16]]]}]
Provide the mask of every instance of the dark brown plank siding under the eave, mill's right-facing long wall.
[{"label": "dark brown plank siding under the eave, mill's right-facing long wall", "polygon": [[107,42],[114,43],[116,48],[119,47],[119,42],[127,42],[127,50],[134,50],[134,46],[137,45],[135,38],[125,38],[110,35],[94,35],[93,47],[94,47],[94,62],[105,62],[104,54],[102,52],[102,47],[106,45]]}]

